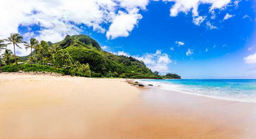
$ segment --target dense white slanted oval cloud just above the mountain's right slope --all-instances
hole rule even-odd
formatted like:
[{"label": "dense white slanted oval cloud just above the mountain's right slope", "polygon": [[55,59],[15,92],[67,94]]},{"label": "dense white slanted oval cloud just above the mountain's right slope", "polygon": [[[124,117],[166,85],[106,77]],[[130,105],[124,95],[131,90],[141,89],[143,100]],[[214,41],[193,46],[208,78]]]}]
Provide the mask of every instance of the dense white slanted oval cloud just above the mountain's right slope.
[{"label": "dense white slanted oval cloud just above the mountain's right slope", "polygon": [[122,11],[118,12],[118,15],[112,20],[106,37],[108,39],[115,39],[117,37],[127,37],[134,28],[134,25],[138,24],[139,19],[142,18],[141,14],[138,14],[139,9],[134,8],[128,14]]}]

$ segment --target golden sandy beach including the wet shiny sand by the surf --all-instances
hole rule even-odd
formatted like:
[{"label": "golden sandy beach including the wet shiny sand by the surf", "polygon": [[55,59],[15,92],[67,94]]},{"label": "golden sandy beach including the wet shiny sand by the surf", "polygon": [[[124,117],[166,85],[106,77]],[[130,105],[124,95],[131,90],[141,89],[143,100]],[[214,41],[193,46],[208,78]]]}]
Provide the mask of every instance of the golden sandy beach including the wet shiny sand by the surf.
[{"label": "golden sandy beach including the wet shiny sand by the surf", "polygon": [[125,79],[0,74],[1,139],[253,139],[255,115]]}]

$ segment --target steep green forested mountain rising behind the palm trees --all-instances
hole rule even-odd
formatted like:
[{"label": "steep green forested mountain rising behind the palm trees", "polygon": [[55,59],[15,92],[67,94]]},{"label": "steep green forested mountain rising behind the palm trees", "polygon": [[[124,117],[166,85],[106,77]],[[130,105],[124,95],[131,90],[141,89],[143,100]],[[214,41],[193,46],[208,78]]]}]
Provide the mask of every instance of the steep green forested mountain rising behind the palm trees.
[{"label": "steep green forested mountain rising behind the palm trees", "polygon": [[[48,44],[59,44],[62,49],[69,52],[74,61],[79,61],[81,64],[88,63],[94,73],[107,75],[109,71],[111,73],[117,72],[118,75],[123,75],[123,78],[142,75],[153,76],[153,72],[146,67],[143,61],[127,56],[116,56],[103,51],[97,41],[83,34],[67,35],[63,41],[48,42]],[[21,61],[26,61],[29,56],[20,57]],[[59,56],[56,57],[56,63],[61,61],[58,59],[60,59]]]}]

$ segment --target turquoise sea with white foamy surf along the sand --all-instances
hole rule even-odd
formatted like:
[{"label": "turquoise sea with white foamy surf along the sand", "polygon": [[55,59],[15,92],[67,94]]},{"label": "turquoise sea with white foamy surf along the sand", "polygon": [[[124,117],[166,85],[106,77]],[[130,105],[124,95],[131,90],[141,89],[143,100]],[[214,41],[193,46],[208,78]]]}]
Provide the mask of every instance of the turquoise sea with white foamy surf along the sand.
[{"label": "turquoise sea with white foamy surf along the sand", "polygon": [[145,84],[161,85],[161,89],[205,97],[256,103],[256,80],[181,79],[139,80]]}]

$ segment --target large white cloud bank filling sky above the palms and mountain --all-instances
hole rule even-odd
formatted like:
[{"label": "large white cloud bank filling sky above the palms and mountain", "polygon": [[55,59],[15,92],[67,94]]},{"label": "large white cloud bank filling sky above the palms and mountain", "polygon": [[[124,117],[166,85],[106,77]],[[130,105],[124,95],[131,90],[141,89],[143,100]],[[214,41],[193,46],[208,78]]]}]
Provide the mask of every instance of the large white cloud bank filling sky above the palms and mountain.
[{"label": "large white cloud bank filling sky above the palms and mountain", "polygon": [[[99,33],[107,31],[106,37],[111,39],[126,37],[142,18],[139,9],[146,10],[148,3],[149,0],[3,1],[1,15],[5,21],[0,22],[0,38],[7,38],[12,32],[18,33],[19,27],[28,31],[37,28],[34,32],[22,34],[27,39],[25,41],[35,37],[39,41],[57,42],[67,34],[80,34],[85,27]],[[122,27],[118,27],[120,25]],[[17,49],[17,53],[26,51]]]}]

